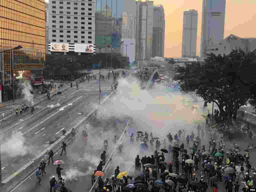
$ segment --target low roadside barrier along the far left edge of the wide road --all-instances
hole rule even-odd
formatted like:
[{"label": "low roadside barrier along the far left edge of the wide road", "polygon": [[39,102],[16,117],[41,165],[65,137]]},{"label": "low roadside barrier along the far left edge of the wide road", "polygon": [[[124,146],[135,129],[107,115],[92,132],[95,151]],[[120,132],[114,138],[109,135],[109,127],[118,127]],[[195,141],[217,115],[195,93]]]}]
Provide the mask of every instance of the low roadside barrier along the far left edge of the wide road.
[{"label": "low roadside barrier along the far left edge of the wide road", "polygon": [[[120,70],[124,70],[124,69],[121,69],[121,68],[118,68],[118,69],[114,69],[114,71],[120,71]],[[99,72],[96,72],[96,73],[93,73],[93,74],[98,74]],[[72,83],[74,83],[74,82],[76,82],[77,80],[80,80],[81,78],[79,78],[79,79],[76,79],[76,80],[74,80],[74,81],[71,81]],[[56,91],[64,91],[64,90],[66,90],[66,89],[68,89],[69,88],[69,85],[68,84],[70,84],[70,83],[66,83],[66,87],[61,87],[61,88],[58,88],[58,89],[56,89]],[[68,86],[67,86],[68,85]],[[52,95],[50,95],[50,97],[52,97],[52,96],[54,96],[54,95],[56,95],[56,93],[55,92],[50,92],[50,94],[51,93],[54,93],[54,94],[52,94]],[[45,94],[43,94],[42,96],[40,96],[40,97],[38,97],[38,98],[35,98],[35,99],[33,99],[32,101],[34,102],[34,105],[36,105],[36,104],[39,104],[40,102],[42,102],[42,101],[44,101],[44,100],[46,100],[47,99],[47,95],[46,95],[46,93]],[[38,100],[38,101],[37,101]],[[15,107],[15,108],[13,108],[13,109],[10,109],[10,110],[8,110],[8,111],[5,111],[5,112],[3,112],[3,113],[1,113],[0,115],[2,116],[2,121],[4,121],[4,120],[7,120],[7,119],[9,119],[10,117],[12,117],[12,116],[14,116],[15,114],[16,114],[16,109],[17,108],[20,108],[22,105],[24,105],[24,104],[26,104],[26,105],[28,105],[29,106],[29,108],[31,107],[30,106],[30,101],[29,102],[19,102],[19,103],[16,103],[16,104],[20,104],[20,106],[18,106],[18,107]],[[15,104],[15,105],[16,105]],[[7,117],[4,117],[4,116],[6,116],[7,115]]]}]

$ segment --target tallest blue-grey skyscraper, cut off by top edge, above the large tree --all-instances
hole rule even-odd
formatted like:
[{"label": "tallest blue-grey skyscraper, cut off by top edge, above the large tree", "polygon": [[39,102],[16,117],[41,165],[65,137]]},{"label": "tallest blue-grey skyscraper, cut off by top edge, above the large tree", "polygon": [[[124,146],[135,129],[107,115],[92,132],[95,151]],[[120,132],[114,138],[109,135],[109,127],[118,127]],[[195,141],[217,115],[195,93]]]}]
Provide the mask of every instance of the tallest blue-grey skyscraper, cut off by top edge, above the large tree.
[{"label": "tallest blue-grey skyscraper, cut off by top edge, above the large tree", "polygon": [[200,57],[224,37],[226,0],[203,0]]}]

